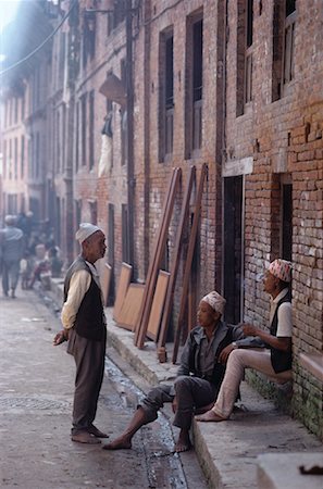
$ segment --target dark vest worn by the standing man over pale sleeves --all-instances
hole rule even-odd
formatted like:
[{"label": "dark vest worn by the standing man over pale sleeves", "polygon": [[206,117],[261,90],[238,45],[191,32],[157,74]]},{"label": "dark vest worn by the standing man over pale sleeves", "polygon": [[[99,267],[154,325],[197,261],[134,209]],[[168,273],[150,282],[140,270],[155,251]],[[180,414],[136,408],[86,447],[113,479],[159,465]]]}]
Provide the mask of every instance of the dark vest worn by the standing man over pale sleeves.
[{"label": "dark vest worn by the standing man over pale sleeves", "polygon": [[64,281],[64,302],[67,299],[70,283],[75,272],[85,269],[91,276],[89,289],[83,298],[76,314],[74,329],[84,338],[101,341],[105,338],[104,312],[101,300],[101,290],[92,277],[89,266],[82,256],[78,256],[70,266]]}]

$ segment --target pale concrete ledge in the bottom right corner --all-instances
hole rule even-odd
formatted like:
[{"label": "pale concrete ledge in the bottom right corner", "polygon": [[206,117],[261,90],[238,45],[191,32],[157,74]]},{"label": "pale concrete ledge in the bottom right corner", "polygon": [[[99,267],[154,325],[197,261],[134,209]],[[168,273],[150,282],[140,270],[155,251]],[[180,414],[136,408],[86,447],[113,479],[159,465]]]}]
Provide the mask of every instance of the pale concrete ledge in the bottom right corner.
[{"label": "pale concrete ledge in the bottom right corner", "polygon": [[322,453],[266,453],[257,459],[257,479],[260,489],[322,489],[323,476],[302,475],[301,465],[323,466]]}]

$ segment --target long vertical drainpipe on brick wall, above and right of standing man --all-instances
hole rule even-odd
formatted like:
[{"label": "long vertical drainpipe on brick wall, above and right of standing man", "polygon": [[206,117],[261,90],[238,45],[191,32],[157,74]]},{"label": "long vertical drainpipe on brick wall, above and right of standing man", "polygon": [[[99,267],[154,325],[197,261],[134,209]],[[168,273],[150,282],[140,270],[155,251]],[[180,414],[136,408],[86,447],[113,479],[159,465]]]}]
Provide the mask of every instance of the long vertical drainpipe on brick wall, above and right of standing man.
[{"label": "long vertical drainpipe on brick wall, above and right of standing man", "polygon": [[126,10],[126,92],[127,92],[127,234],[128,263],[134,264],[134,85],[133,85],[133,0]]}]

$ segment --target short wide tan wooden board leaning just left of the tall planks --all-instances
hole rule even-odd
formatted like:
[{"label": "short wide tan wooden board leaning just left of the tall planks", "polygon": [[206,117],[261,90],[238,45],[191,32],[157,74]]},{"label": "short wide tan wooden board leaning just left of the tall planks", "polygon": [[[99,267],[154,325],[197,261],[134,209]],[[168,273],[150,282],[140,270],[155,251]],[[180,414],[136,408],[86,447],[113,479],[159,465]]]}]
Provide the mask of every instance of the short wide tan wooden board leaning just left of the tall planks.
[{"label": "short wide tan wooden board leaning just left of the tall planks", "polygon": [[134,330],[136,322],[138,321],[144,291],[144,284],[129,284],[119,314],[117,326],[128,329],[129,331]]}]

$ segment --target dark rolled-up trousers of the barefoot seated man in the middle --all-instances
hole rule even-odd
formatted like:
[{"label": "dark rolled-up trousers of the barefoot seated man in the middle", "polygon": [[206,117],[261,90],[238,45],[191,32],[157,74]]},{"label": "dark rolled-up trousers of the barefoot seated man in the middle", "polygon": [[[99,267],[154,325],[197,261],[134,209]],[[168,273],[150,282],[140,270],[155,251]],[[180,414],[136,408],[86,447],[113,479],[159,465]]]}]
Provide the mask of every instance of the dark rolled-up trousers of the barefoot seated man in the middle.
[{"label": "dark rolled-up trousers of the barefoot seated man in the middle", "polygon": [[173,386],[154,387],[140,404],[146,412],[147,422],[157,419],[158,411],[165,402],[173,402],[175,396],[177,410],[173,425],[188,430],[195,410],[214,402],[216,388],[208,380],[184,375],[177,377]]}]

